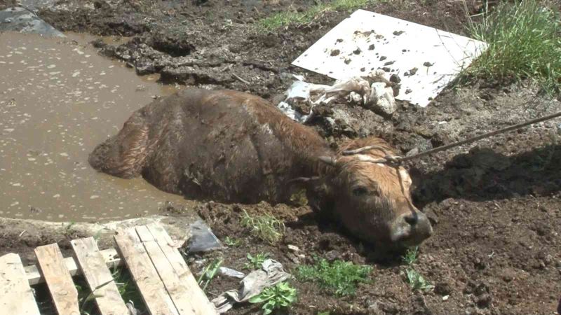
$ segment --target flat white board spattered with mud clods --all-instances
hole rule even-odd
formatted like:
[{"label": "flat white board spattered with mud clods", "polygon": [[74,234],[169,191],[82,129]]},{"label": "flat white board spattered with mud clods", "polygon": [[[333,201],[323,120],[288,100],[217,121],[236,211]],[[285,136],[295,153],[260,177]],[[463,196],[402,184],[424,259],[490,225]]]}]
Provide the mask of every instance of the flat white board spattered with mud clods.
[{"label": "flat white board spattered with mud clods", "polygon": [[[465,36],[356,10],[292,64],[335,79],[386,67],[388,76],[401,79],[396,99],[425,107],[486,48],[486,43]],[[416,73],[405,75],[414,68]]]}]

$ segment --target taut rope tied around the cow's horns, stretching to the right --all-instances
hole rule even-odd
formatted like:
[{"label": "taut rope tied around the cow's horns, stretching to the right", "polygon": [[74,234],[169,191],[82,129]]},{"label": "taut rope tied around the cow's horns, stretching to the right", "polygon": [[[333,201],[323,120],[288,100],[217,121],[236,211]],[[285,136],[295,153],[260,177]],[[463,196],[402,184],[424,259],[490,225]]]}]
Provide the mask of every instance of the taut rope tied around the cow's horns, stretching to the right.
[{"label": "taut rope tied around the cow's horns, stretching to the right", "polygon": [[378,160],[372,160],[372,161],[365,161],[365,162],[375,162],[375,163],[385,163],[385,164],[391,164],[391,165],[402,165],[403,162],[409,161],[409,160],[413,160],[415,158],[421,158],[421,156],[425,156],[425,155],[431,155],[434,153],[438,153],[440,151],[445,151],[448,150],[450,148],[454,148],[457,146],[461,146],[464,144],[469,144],[471,142],[475,142],[481,139],[485,139],[485,138],[489,138],[492,137],[496,134],[503,134],[505,132],[509,132],[512,130],[517,130],[520,129],[522,127],[526,127],[528,125],[533,125],[535,123],[541,123],[542,121],[545,120],[550,120],[553,118],[557,118],[557,117],[561,117],[561,111],[557,112],[557,113],[553,113],[551,115],[548,116],[543,116],[541,118],[536,118],[536,119],[532,119],[532,120],[528,120],[525,123],[520,123],[517,125],[511,125],[509,127],[505,127],[499,130],[495,130],[493,132],[487,132],[485,134],[480,134],[479,136],[475,136],[475,137],[471,137],[465,140],[461,140],[461,141],[456,141],[453,142],[452,144],[447,144],[446,146],[439,146],[438,148],[432,148],[431,150],[427,150],[421,153],[417,153],[414,155],[410,155],[410,156],[405,156],[405,157],[400,157],[400,156],[394,156],[394,155],[390,155],[388,154],[388,152],[384,149],[381,148],[380,146],[365,146],[363,148],[358,148],[355,150],[349,150],[349,151],[344,151],[343,155],[355,155],[364,151],[370,151],[373,149],[377,149],[377,150],[381,150],[384,152],[384,154],[386,155],[384,158],[378,159]]}]

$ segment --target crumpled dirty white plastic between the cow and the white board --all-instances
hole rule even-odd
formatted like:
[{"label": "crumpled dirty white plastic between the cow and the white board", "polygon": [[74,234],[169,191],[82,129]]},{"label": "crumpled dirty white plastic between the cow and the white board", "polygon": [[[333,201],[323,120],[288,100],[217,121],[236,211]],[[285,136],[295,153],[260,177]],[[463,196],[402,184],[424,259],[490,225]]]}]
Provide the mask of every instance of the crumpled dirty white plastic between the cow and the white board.
[{"label": "crumpled dirty white plastic between the cow and the white board", "polygon": [[[307,83],[296,80],[285,92],[286,99],[278,108],[288,117],[299,123],[305,123],[312,115],[313,106],[344,102],[359,104],[377,113],[391,115],[396,111],[396,99],[393,83],[385,78],[386,72],[378,69],[365,76],[356,76],[337,80],[332,86]],[[295,109],[298,104],[309,107],[308,113]]]}]

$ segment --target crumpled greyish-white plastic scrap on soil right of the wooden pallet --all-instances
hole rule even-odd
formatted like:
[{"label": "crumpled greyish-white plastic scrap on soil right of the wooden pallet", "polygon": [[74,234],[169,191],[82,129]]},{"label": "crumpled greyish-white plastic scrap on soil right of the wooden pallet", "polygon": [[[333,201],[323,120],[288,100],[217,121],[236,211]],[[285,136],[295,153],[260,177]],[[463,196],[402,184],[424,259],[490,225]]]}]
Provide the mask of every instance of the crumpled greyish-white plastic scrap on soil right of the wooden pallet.
[{"label": "crumpled greyish-white plastic scrap on soil right of the wooden pallet", "polygon": [[222,314],[231,309],[235,303],[246,302],[262,293],[265,288],[289,278],[290,274],[283,270],[283,265],[280,262],[267,259],[262,263],[262,269],[255,270],[243,278],[238,290],[228,290],[215,297],[211,302],[215,304],[217,312]]}]

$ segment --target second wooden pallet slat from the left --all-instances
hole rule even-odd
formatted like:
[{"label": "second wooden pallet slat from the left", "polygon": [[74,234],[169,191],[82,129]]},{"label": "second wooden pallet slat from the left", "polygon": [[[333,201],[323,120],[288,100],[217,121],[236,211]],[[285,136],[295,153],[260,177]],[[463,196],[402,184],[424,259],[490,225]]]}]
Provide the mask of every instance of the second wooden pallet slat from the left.
[{"label": "second wooden pallet slat from the left", "polygon": [[80,315],[78,291],[58,245],[55,243],[39,246],[35,248],[35,255],[58,314]]}]

